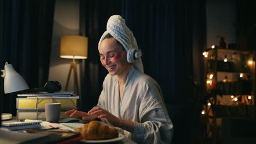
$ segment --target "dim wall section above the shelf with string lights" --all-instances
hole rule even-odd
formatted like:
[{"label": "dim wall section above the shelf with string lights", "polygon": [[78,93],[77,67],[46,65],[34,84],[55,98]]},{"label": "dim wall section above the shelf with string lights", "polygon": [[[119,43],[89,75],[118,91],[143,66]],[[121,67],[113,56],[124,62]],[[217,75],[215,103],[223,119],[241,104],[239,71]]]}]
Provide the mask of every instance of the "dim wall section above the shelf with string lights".
[{"label": "dim wall section above the shelf with string lights", "polygon": [[219,45],[218,35],[228,44],[236,43],[236,3],[232,0],[206,1],[207,48]]}]

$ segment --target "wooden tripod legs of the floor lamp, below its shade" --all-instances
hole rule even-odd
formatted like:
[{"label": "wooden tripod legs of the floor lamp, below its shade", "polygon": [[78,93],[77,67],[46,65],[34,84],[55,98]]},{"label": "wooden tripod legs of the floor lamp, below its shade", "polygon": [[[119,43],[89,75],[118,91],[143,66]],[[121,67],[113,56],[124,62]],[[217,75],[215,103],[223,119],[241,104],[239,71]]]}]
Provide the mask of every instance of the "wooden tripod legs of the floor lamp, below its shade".
[{"label": "wooden tripod legs of the floor lamp, below its shade", "polygon": [[73,57],[73,61],[70,64],[69,72],[68,72],[68,79],[65,87],[65,91],[67,91],[68,88],[68,82],[71,76],[71,71],[74,70],[74,93],[79,95],[78,91],[78,80],[77,80],[77,62],[75,62],[75,59]]}]

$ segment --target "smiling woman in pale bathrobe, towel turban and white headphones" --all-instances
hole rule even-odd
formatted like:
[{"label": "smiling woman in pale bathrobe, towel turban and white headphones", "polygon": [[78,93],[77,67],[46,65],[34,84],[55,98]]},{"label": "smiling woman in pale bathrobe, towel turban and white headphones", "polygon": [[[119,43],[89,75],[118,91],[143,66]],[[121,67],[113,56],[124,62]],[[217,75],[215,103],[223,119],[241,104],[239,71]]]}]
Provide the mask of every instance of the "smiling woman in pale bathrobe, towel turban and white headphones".
[{"label": "smiling woman in pale bathrobe, towel turban and white headphones", "polygon": [[101,118],[138,143],[171,143],[173,125],[156,81],[143,73],[135,37],[119,15],[107,23],[98,50],[109,74],[98,104],[88,113],[70,110],[71,117]]}]

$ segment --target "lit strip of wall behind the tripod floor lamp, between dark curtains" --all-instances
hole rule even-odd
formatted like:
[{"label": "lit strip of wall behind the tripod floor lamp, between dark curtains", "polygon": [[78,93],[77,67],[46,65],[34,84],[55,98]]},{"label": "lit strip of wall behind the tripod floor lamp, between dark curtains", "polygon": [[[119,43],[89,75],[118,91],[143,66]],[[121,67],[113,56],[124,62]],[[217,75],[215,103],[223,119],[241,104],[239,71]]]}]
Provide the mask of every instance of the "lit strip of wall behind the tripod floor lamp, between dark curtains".
[{"label": "lit strip of wall behind the tripod floor lamp, between dark curtains", "polygon": [[[79,35],[79,0],[56,0],[55,2],[49,80],[59,81],[64,91],[72,59],[60,58],[61,35]],[[79,72],[79,67],[77,71]],[[78,73],[78,82],[79,77]],[[72,73],[68,91],[74,91],[73,83]]]}]

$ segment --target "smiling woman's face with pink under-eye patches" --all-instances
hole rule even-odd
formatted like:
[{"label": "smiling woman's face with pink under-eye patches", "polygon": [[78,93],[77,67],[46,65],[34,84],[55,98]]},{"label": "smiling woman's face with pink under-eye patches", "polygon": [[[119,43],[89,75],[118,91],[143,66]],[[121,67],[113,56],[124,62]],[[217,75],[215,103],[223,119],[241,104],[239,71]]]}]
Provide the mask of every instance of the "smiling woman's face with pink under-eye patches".
[{"label": "smiling woman's face with pink under-eye patches", "polygon": [[101,64],[110,75],[122,75],[129,68],[126,51],[117,43],[115,38],[102,40],[100,44]]}]

